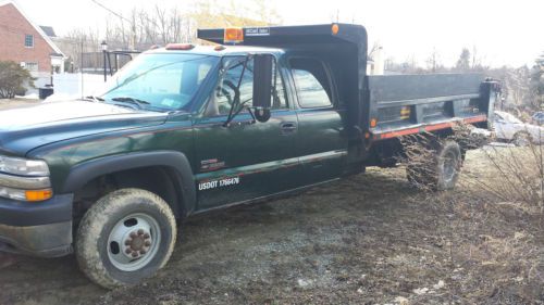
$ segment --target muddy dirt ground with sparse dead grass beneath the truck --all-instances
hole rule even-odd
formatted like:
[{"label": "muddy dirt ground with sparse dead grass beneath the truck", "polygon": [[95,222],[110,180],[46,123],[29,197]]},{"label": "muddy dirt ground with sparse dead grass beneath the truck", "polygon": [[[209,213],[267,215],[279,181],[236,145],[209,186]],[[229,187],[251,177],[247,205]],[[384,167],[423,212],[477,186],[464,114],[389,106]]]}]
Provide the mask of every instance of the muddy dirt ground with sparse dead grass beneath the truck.
[{"label": "muddy dirt ground with sparse dead grass beneath the truck", "polygon": [[[485,168],[481,152],[467,168]],[[544,304],[542,214],[403,168],[191,219],[154,278],[106,291],[73,256],[3,255],[0,304]]]}]

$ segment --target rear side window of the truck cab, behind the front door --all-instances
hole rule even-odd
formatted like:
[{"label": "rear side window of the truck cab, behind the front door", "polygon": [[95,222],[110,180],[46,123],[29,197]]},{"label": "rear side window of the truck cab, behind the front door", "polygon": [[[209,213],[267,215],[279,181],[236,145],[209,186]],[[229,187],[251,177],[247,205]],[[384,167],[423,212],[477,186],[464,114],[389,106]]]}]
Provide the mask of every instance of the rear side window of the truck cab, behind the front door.
[{"label": "rear side window of the truck cab, behind the front door", "polygon": [[289,64],[298,104],[305,109],[331,106],[331,86],[323,64],[313,59],[292,59]]}]

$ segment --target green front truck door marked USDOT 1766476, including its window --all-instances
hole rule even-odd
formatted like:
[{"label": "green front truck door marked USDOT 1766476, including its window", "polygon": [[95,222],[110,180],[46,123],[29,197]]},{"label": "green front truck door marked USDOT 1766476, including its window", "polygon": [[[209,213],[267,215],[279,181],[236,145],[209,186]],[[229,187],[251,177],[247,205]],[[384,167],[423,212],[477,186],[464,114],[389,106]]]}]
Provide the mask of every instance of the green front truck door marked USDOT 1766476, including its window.
[{"label": "green front truck door marked USDOT 1766476, including its window", "polygon": [[194,120],[198,209],[288,190],[296,181],[293,173],[299,170],[297,115],[289,109],[281,74],[276,69],[277,94],[268,122],[256,123],[243,110],[225,126],[236,94],[240,103],[252,103],[252,60],[227,56],[223,66],[203,114]]}]

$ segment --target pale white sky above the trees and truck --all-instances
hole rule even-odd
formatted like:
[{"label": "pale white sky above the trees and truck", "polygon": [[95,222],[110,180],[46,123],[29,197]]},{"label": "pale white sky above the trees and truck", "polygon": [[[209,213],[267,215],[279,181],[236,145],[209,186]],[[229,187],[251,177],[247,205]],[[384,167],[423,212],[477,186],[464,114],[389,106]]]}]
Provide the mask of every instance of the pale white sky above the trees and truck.
[{"label": "pale white sky above the trees and truck", "polygon": [[[103,27],[112,17],[91,0],[16,0],[35,23],[51,25],[60,35],[76,27]],[[182,10],[198,0],[99,0],[115,12],[157,3]],[[223,0],[227,1],[227,0]],[[248,0],[232,0],[239,3]],[[462,48],[477,50],[490,66],[533,65],[544,53],[543,0],[267,0],[285,25],[331,22],[366,26],[370,47],[378,42],[385,58],[413,59],[424,66],[435,50],[440,61],[454,65]]]}]

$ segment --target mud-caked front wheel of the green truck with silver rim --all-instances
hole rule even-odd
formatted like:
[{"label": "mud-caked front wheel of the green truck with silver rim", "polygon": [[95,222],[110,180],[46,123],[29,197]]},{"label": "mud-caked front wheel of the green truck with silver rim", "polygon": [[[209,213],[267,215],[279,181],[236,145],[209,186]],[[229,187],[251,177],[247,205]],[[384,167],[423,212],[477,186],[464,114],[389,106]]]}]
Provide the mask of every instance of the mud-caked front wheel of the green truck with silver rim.
[{"label": "mud-caked front wheel of the green truck with silver rim", "polygon": [[84,215],[75,255],[90,280],[113,289],[138,283],[162,268],[175,238],[176,223],[166,202],[145,190],[122,189]]}]

